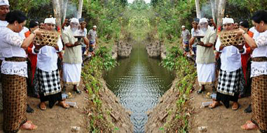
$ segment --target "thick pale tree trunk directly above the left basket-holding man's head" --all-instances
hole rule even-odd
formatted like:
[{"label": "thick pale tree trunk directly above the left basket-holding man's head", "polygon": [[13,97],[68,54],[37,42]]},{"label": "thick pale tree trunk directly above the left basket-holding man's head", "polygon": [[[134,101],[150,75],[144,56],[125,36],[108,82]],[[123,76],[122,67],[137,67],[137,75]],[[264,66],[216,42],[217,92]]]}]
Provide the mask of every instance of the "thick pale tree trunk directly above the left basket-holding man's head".
[{"label": "thick pale tree trunk directly above the left basket-holding man's head", "polygon": [[54,17],[56,18],[56,26],[61,27],[62,14],[60,5],[62,3],[62,0],[52,0],[52,3],[54,10]]}]

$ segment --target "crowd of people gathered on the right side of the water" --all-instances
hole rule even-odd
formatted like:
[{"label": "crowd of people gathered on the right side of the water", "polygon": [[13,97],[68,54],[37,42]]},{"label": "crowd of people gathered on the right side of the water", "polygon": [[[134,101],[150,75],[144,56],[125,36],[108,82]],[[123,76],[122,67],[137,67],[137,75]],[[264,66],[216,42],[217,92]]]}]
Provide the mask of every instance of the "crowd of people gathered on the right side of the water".
[{"label": "crowd of people gathered on the right side of the water", "polygon": [[[181,27],[181,40],[184,55],[195,57],[201,86],[197,93],[204,92],[205,85],[211,85],[216,94],[209,107],[223,103],[228,108],[232,101],[232,110],[237,110],[238,99],[251,92],[251,105],[244,111],[252,112],[252,118],[241,128],[267,133],[267,11],[257,11],[252,23],[249,29],[248,20],[234,23],[232,18],[223,18],[223,26],[216,33],[212,19],[195,19],[191,34],[185,26]],[[243,37],[243,44],[223,45],[221,33],[232,30],[236,30],[236,38]]]}]

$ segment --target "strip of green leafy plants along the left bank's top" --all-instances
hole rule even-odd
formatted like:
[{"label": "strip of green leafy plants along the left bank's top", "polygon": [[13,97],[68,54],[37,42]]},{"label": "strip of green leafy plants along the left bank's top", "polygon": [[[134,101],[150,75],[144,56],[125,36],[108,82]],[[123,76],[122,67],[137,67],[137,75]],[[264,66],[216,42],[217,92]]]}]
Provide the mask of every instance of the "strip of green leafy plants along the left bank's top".
[{"label": "strip of green leafy plants along the left bank's top", "polygon": [[106,120],[103,117],[103,115],[108,114],[109,111],[102,110],[102,100],[100,99],[99,92],[103,89],[102,82],[100,81],[102,70],[115,67],[117,62],[111,58],[111,49],[108,49],[106,46],[99,47],[95,53],[96,56],[85,63],[82,71],[82,78],[89,92],[88,113],[90,121],[88,130],[92,133],[100,133],[100,131],[108,129],[116,130],[111,120]]}]

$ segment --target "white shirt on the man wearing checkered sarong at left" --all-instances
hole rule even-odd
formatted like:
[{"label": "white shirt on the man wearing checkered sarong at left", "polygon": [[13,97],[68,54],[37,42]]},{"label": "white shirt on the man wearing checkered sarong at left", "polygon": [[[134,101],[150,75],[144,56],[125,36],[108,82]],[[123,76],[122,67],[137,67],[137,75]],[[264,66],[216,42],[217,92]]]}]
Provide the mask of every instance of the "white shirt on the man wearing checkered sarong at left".
[{"label": "white shirt on the man wearing checkered sarong at left", "polygon": [[57,45],[59,48],[58,51],[52,46],[44,46],[40,49],[39,53],[34,52],[35,47],[33,46],[33,53],[38,54],[37,68],[46,72],[52,72],[54,70],[57,70],[57,52],[60,52],[63,48],[63,44],[60,37],[58,39]]}]

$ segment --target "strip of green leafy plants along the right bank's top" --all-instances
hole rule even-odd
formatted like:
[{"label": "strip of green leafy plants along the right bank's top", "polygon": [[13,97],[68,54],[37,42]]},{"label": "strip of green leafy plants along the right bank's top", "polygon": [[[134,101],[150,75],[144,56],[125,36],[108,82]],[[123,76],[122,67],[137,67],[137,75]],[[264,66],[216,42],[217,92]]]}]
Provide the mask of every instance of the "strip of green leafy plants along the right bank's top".
[{"label": "strip of green leafy plants along the right bank's top", "polygon": [[[173,46],[167,49],[169,53],[167,58],[162,61],[162,66],[168,68],[169,70],[176,70],[176,76],[178,77],[178,82],[176,84],[176,92],[178,92],[178,97],[176,101],[176,108],[174,111],[169,113],[175,113],[174,118],[168,118],[164,124],[164,129],[174,133],[188,133],[188,100],[190,98],[190,92],[193,87],[196,78],[196,70],[193,63],[190,63],[186,57],[182,56],[181,50]],[[172,115],[169,115],[172,116]]]}]

